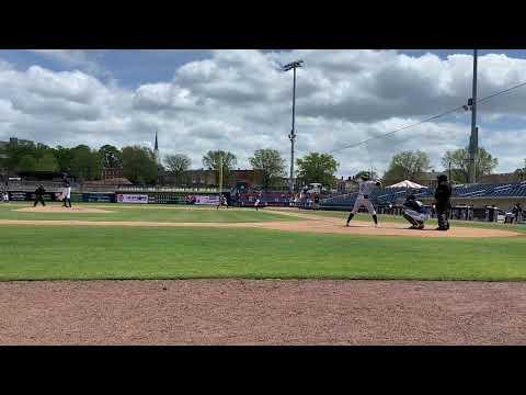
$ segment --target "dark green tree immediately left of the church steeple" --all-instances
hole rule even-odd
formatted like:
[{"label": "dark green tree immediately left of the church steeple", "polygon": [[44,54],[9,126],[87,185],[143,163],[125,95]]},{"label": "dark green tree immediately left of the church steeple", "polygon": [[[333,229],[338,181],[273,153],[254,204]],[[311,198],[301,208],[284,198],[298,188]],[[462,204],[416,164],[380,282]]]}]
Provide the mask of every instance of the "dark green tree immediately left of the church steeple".
[{"label": "dark green tree immediately left of the church steeple", "polygon": [[156,183],[158,168],[156,156],[148,147],[124,147],[123,174],[134,183]]}]

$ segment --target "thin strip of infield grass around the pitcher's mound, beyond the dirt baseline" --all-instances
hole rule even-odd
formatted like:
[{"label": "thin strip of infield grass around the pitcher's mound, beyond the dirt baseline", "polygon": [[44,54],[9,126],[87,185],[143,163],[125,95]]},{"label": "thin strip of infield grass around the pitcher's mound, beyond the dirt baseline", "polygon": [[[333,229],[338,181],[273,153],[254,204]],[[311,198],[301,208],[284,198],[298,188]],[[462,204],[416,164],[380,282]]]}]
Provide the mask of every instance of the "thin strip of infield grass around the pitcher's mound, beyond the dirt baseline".
[{"label": "thin strip of infield grass around the pitcher's mound, beyond the dirt baseline", "polygon": [[[122,204],[80,204],[84,207],[94,207],[111,211],[112,213],[31,213],[18,212],[16,208],[31,207],[27,203],[0,204],[0,219],[78,219],[78,221],[146,221],[146,222],[214,222],[214,223],[248,223],[268,221],[296,221],[290,216],[254,208],[219,208],[195,206],[162,206],[162,205],[122,205]],[[48,204],[60,207],[59,203]],[[75,207],[75,205],[73,205]]]}]

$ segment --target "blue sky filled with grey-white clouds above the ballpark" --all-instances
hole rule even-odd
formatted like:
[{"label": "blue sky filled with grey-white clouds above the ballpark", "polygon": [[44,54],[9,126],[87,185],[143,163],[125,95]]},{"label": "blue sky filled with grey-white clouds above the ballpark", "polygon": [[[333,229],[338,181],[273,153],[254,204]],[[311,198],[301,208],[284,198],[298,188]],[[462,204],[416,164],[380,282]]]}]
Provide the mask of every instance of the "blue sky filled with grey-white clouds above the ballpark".
[{"label": "blue sky filled with grey-white clouds above the ballpark", "polygon": [[[291,72],[298,70],[297,155],[334,151],[465,104],[471,50],[0,50],[0,140],[152,146],[202,167],[209,149],[248,167],[255,149],[289,158]],[[526,50],[479,50],[479,98],[526,81]],[[478,108],[479,144],[513,171],[526,158],[526,87]],[[334,153],[339,176],[382,173],[401,150],[467,146],[470,113]]]}]

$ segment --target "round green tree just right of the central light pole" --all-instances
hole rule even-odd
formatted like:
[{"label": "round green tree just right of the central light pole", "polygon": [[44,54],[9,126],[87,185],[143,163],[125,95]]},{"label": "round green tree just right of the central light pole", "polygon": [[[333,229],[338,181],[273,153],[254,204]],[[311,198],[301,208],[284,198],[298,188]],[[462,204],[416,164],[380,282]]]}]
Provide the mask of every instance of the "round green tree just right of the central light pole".
[{"label": "round green tree just right of the central light pole", "polygon": [[304,183],[319,182],[323,185],[333,185],[334,173],[340,163],[330,154],[309,153],[296,160],[297,176]]}]

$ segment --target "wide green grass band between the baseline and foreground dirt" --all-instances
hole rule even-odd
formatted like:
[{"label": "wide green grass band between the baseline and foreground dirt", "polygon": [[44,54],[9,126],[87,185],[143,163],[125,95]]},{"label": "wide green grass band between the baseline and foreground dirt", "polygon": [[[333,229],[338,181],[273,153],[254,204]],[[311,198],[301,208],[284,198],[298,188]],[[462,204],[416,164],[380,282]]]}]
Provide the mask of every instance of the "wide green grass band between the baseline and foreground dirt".
[{"label": "wide green grass band between the baseline and foreground dirt", "polygon": [[236,228],[19,225],[0,226],[0,280],[4,281],[526,280],[526,234],[459,239]]}]

